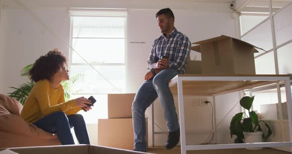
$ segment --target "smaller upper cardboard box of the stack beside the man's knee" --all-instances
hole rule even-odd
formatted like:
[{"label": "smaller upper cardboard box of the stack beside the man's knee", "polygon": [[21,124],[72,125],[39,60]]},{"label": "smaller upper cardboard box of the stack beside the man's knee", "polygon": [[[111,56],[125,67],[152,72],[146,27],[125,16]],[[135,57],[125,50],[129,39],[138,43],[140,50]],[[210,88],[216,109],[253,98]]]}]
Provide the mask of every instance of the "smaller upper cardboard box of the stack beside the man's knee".
[{"label": "smaller upper cardboard box of the stack beside the man's knee", "polygon": [[132,118],[132,103],[136,94],[108,94],[108,118]]}]

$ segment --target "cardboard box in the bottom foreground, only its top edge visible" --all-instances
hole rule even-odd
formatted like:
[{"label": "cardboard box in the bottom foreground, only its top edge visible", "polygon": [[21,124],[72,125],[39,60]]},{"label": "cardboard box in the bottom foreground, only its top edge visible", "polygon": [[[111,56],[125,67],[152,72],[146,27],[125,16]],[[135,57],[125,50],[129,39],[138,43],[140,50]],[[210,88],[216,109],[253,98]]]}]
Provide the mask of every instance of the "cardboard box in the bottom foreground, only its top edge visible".
[{"label": "cardboard box in the bottom foreground, only its top edge visible", "polygon": [[17,154],[150,154],[93,145],[21,147],[7,148],[7,150]]}]

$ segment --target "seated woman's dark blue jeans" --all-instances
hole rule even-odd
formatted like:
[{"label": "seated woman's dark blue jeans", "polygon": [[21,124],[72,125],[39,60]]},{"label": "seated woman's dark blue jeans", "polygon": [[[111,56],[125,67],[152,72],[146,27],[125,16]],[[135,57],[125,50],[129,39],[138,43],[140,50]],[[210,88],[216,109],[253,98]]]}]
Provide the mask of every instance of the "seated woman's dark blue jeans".
[{"label": "seated woman's dark blue jeans", "polygon": [[37,120],[33,124],[49,133],[56,133],[62,145],[75,144],[70,130],[70,128],[74,127],[78,142],[90,145],[82,115],[66,116],[64,112],[55,112]]}]

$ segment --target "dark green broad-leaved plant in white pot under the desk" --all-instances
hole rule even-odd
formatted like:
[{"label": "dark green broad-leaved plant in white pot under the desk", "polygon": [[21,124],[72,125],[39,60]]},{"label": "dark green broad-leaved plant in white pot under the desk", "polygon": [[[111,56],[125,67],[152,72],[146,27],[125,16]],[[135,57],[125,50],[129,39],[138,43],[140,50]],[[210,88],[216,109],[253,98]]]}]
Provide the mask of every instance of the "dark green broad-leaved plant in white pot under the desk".
[{"label": "dark green broad-leaved plant in white pot under the desk", "polygon": [[[243,132],[256,132],[262,131],[260,122],[265,123],[265,126],[268,129],[267,135],[263,135],[267,139],[271,134],[271,127],[263,120],[259,120],[257,114],[254,111],[250,111],[254,96],[244,96],[240,100],[241,106],[248,110],[248,116],[245,113],[238,113],[232,117],[230,122],[230,135],[231,138],[233,135],[236,135],[235,143],[243,143],[244,135]],[[245,117],[243,116],[245,115]]]}]

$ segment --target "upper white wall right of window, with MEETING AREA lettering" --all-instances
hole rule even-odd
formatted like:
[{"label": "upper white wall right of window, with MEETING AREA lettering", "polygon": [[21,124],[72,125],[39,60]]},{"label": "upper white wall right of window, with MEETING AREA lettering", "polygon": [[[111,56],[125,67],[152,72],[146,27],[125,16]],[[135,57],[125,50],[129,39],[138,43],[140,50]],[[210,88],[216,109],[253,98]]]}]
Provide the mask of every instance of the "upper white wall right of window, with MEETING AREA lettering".
[{"label": "upper white wall right of window, with MEETING AREA lettering", "polygon": [[[227,9],[227,8],[226,8]],[[157,10],[128,10],[127,92],[137,92],[146,73],[146,60],[154,39],[161,36],[155,13]],[[173,10],[175,27],[189,37],[191,42],[221,35],[235,37],[235,20],[229,9],[226,12]],[[133,44],[130,41],[144,41]],[[135,72],[135,74],[134,74]]]}]

